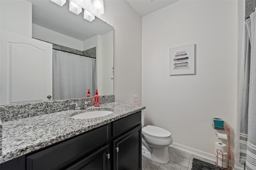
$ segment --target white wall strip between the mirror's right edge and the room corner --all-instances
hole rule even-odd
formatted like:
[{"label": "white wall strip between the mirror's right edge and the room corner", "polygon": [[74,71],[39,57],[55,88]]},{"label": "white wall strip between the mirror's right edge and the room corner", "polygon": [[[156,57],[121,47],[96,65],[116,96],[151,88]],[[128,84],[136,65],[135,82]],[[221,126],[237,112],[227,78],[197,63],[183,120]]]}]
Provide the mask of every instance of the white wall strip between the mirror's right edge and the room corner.
[{"label": "white wall strip between the mirror's right edge and the room corner", "polygon": [[99,18],[114,27],[114,94],[117,102],[141,104],[142,18],[126,0],[104,0]]}]

